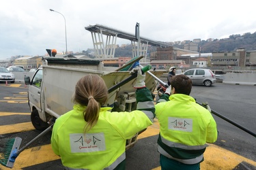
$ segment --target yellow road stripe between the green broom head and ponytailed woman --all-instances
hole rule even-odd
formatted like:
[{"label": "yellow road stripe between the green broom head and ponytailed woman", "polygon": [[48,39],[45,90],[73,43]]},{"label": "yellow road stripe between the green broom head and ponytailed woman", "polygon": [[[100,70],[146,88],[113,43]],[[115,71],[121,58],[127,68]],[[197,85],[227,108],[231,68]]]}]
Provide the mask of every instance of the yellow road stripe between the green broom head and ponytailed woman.
[{"label": "yellow road stripe between the green broom head and ponytailed woman", "polygon": [[[38,165],[40,163],[47,163],[49,161],[57,159],[59,159],[59,156],[57,156],[53,152],[51,144],[33,147],[27,150],[23,150],[23,152],[20,152],[20,154],[14,162],[13,169],[22,169],[33,165]],[[0,166],[0,169],[10,170],[10,168],[3,166]]]}]

